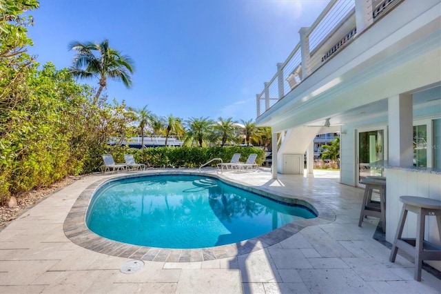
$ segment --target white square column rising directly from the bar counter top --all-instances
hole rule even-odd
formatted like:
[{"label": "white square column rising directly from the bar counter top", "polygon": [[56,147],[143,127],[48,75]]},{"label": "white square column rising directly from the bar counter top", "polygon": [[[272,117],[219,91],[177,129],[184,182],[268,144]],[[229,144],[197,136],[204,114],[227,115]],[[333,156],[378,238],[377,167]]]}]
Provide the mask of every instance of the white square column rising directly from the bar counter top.
[{"label": "white square column rising directly from the bar counter top", "polygon": [[389,165],[413,166],[412,95],[388,99]]}]

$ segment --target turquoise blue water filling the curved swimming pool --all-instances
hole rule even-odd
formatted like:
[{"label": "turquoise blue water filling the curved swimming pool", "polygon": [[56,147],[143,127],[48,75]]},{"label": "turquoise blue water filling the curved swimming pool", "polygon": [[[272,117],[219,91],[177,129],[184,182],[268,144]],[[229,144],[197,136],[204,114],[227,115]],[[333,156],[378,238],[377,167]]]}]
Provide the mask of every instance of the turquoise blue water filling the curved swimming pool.
[{"label": "turquoise blue water filling the curved swimming pool", "polygon": [[119,242],[161,248],[232,244],[316,215],[212,177],[156,175],[119,179],[92,197],[86,224]]}]

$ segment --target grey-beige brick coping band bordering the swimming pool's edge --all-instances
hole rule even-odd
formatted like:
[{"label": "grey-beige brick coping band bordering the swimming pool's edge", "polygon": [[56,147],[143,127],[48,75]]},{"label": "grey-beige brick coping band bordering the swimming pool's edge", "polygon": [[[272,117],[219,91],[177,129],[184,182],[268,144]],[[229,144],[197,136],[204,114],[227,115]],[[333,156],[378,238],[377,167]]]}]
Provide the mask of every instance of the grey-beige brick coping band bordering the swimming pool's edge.
[{"label": "grey-beige brick coping band bordering the swimming pool's edge", "polygon": [[[126,244],[101,237],[90,231],[88,226],[85,224],[85,215],[90,204],[90,199],[92,198],[92,195],[94,195],[96,189],[115,179],[143,177],[145,175],[202,175],[204,177],[213,177],[215,179],[220,179],[231,186],[236,186],[252,193],[263,195],[263,197],[290,204],[300,204],[306,206],[310,210],[314,211],[314,213],[316,213],[318,216],[313,219],[295,220],[289,224],[285,224],[284,226],[277,228],[274,231],[254,237],[252,239],[247,239],[242,242],[196,249],[156,248]],[[336,220],[336,214],[333,210],[331,210],[331,208],[329,208],[329,206],[326,206],[325,204],[311,198],[301,196],[295,196],[295,198],[293,197],[294,195],[287,195],[285,193],[275,195],[274,193],[270,193],[268,190],[266,190],[265,187],[255,188],[253,186],[247,186],[245,183],[238,181],[233,182],[232,180],[218,174],[170,170],[115,175],[111,178],[96,181],[94,184],[91,184],[88,186],[88,188],[83,190],[68,213],[68,216],[63,224],[63,230],[66,237],[68,237],[74,244],[107,255],[131,259],[142,259],[145,261],[154,262],[203,262],[207,260],[236,257],[238,255],[258,251],[291,237],[292,235],[298,233],[298,231],[302,230],[302,228],[307,226],[328,224]]]}]

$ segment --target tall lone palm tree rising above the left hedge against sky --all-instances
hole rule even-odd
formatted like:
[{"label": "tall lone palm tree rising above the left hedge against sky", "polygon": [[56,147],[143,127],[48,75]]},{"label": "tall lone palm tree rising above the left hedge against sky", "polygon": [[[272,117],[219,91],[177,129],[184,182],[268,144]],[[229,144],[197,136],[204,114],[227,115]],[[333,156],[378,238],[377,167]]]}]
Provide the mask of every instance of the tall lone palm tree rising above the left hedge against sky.
[{"label": "tall lone palm tree rising above the left hedge against sky", "polygon": [[73,41],[68,48],[77,51],[72,67],[69,68],[72,75],[81,79],[99,78],[94,104],[103,88],[107,87],[107,78],[122,81],[127,88],[132,86],[130,74],[134,72],[134,62],[127,55],[121,55],[121,52],[110,48],[107,39],[101,43]]}]

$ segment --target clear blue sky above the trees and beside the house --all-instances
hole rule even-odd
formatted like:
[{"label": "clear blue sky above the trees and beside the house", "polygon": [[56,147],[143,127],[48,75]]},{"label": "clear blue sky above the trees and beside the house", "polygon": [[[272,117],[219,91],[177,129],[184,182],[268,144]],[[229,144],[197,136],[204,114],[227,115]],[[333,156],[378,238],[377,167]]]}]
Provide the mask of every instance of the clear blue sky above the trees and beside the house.
[{"label": "clear blue sky above the trees and beside the house", "polygon": [[[72,41],[108,39],[132,57],[133,86],[109,81],[109,99],[183,119],[256,118],[256,94],[327,0],[41,0],[28,52],[57,69]],[[85,81],[81,81],[83,83]],[[89,84],[97,86],[98,81]]]}]

